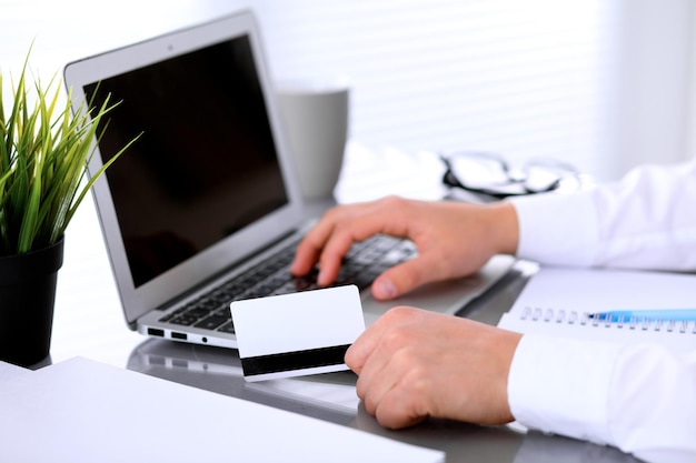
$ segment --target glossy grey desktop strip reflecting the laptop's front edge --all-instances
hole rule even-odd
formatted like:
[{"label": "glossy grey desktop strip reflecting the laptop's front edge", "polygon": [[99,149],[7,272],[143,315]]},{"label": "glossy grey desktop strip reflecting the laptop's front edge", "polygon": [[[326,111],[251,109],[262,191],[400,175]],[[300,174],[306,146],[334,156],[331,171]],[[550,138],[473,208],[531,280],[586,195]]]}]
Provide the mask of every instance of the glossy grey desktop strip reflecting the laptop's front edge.
[{"label": "glossy grey desktop strip reflecting the laptop's front edge", "polygon": [[336,372],[281,381],[248,383],[236,351],[148,340],[138,345],[128,369],[220,394],[447,453],[447,462],[638,462],[613,447],[507,426],[479,426],[426,420],[405,430],[386,430],[369,415],[355,392],[356,375]]}]

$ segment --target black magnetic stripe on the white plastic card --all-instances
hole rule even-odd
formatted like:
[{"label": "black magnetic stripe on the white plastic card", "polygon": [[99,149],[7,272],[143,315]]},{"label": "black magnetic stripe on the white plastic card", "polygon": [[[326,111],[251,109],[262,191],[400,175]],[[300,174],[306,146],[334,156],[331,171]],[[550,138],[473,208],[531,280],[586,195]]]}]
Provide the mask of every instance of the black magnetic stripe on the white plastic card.
[{"label": "black magnetic stripe on the white plastic card", "polygon": [[281,371],[338,365],[344,363],[344,356],[350,344],[345,344],[331,348],[309,349],[306,351],[248,356],[241,359],[241,368],[245,371],[245,375],[253,376]]}]

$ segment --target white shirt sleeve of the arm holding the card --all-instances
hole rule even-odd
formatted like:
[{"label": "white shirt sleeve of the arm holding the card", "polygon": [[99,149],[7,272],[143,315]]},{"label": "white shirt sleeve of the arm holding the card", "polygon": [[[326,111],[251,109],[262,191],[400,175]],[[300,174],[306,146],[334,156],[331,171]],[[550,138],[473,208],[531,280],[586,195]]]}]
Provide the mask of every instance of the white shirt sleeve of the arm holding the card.
[{"label": "white shirt sleeve of the arm holding the card", "polygon": [[696,461],[696,352],[526,334],[508,376],[515,419],[648,462]]}]

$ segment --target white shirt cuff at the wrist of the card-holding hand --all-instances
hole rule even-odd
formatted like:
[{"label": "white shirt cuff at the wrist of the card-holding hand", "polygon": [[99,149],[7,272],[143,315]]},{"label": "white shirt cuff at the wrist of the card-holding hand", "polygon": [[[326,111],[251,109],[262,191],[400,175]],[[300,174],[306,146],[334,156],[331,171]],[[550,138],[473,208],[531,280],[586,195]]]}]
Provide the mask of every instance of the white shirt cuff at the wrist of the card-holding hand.
[{"label": "white shirt cuff at the wrist of the card-holding hand", "polygon": [[508,376],[515,420],[530,429],[612,443],[609,391],[620,345],[525,334]]}]

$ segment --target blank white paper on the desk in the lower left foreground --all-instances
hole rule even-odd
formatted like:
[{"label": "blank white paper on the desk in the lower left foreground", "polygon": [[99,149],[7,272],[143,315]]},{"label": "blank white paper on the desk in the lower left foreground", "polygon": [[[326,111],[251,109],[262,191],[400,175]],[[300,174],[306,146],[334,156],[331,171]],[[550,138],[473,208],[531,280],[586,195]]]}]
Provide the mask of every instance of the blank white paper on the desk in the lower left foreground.
[{"label": "blank white paper on the desk in the lower left foreground", "polygon": [[8,462],[441,462],[444,453],[73,359],[0,383]]}]

